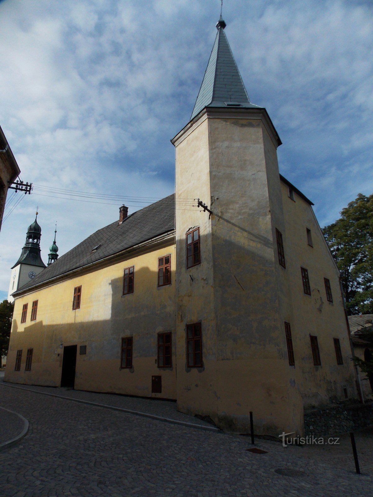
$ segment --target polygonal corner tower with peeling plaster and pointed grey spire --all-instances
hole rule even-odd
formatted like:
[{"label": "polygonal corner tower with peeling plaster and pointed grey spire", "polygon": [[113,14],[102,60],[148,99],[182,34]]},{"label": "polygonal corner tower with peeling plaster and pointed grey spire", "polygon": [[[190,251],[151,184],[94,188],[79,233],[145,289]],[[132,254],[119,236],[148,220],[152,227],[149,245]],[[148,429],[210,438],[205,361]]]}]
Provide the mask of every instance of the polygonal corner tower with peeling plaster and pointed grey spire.
[{"label": "polygonal corner tower with peeling plaster and pointed grey spire", "polygon": [[[276,261],[285,233],[277,147],[250,102],[221,18],[189,123],[176,148],[178,409],[227,430],[298,432],[303,406],[285,356],[290,289]],[[194,201],[194,204],[197,200]],[[197,255],[195,255],[197,254]],[[291,430],[290,430],[291,427]]]}]

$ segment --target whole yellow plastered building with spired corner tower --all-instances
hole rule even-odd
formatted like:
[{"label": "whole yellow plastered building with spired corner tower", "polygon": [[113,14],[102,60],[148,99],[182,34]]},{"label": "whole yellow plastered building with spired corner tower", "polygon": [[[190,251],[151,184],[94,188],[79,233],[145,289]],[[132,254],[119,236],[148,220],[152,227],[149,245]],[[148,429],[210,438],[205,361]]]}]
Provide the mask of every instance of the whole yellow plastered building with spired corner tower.
[{"label": "whole yellow plastered building with spired corner tower", "polygon": [[227,431],[303,434],[358,397],[339,282],[310,202],[279,174],[224,28],[176,191],[62,255],[13,294],[5,381],[177,400]]}]

